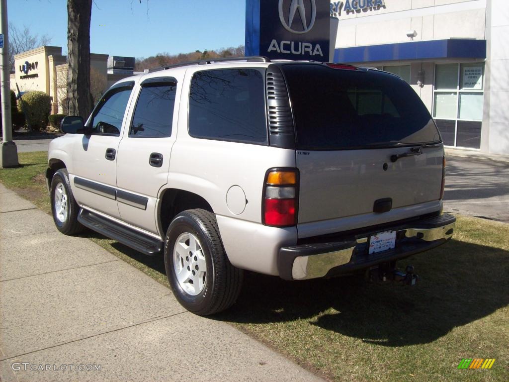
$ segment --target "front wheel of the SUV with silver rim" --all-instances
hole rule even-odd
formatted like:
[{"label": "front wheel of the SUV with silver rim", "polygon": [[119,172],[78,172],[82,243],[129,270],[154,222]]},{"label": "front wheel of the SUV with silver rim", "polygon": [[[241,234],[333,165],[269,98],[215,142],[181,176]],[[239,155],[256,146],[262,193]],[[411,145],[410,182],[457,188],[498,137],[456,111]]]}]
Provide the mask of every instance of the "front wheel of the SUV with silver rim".
[{"label": "front wheel of the SUV with silver rim", "polygon": [[79,206],[72,195],[66,169],[56,171],[51,179],[50,203],[53,221],[60,232],[73,235],[83,230],[78,222]]}]

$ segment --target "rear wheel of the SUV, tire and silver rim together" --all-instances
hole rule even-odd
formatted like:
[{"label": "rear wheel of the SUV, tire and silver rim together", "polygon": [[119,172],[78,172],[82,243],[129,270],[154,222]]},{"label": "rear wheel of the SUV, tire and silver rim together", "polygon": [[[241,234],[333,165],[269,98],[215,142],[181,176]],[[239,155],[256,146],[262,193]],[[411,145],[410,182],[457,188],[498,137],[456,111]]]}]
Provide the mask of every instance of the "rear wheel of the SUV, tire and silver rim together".
[{"label": "rear wheel of the SUV, tire and silver rim together", "polygon": [[175,217],[164,240],[164,265],[175,297],[197,315],[229,308],[240,293],[243,271],[228,260],[212,212],[191,209]]}]

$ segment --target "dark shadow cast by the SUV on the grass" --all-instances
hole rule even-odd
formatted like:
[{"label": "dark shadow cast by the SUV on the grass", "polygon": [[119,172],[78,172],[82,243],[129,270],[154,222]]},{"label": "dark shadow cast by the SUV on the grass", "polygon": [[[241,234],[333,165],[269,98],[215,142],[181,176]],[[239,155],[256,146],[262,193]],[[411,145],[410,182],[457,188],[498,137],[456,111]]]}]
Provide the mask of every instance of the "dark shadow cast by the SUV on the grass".
[{"label": "dark shadow cast by the SUV on the grass", "polygon": [[237,304],[214,318],[309,319],[382,346],[429,343],[509,304],[508,260],[508,251],[451,240],[399,264],[415,266],[421,276],[415,287],[370,284],[360,277],[286,282],[248,273]]}]

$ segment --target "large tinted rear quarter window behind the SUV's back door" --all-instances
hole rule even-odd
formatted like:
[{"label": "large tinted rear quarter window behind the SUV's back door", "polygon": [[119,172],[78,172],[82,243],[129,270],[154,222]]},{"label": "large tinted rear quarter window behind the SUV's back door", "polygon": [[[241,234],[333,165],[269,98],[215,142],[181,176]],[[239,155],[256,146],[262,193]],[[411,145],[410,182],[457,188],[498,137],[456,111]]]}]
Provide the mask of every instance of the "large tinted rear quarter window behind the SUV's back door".
[{"label": "large tinted rear quarter window behind the SUV's back door", "polygon": [[264,72],[197,72],[189,95],[189,133],[223,141],[267,143]]}]

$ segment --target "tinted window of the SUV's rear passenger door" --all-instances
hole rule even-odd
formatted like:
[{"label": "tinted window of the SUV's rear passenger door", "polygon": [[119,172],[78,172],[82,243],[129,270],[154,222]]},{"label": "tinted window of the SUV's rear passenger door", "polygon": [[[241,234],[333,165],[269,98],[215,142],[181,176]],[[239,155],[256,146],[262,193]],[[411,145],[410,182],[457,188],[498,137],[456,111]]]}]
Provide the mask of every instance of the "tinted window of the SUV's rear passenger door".
[{"label": "tinted window of the SUV's rear passenger door", "polygon": [[175,85],[144,86],[139,93],[129,137],[172,135]]}]

